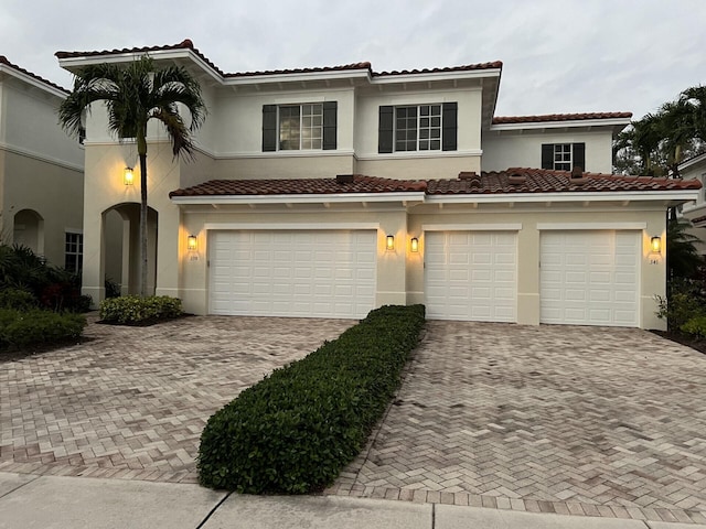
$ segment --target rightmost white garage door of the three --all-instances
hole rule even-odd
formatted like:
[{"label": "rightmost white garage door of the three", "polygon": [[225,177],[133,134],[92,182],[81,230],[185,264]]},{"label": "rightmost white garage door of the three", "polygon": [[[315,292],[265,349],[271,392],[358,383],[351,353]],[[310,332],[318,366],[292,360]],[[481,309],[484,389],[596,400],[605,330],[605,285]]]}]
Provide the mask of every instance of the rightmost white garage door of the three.
[{"label": "rightmost white garage door of the three", "polygon": [[542,234],[542,323],[638,326],[639,231]]}]

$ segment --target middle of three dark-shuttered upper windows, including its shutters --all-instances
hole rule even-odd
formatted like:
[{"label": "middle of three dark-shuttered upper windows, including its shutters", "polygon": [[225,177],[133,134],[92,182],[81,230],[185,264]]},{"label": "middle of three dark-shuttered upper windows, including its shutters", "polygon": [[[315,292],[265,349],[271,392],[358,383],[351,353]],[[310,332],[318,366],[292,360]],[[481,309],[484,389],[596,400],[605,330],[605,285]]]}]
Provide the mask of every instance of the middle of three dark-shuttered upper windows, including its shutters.
[{"label": "middle of three dark-shuttered upper windows, including its shutters", "polygon": [[456,151],[456,102],[379,107],[378,152]]}]

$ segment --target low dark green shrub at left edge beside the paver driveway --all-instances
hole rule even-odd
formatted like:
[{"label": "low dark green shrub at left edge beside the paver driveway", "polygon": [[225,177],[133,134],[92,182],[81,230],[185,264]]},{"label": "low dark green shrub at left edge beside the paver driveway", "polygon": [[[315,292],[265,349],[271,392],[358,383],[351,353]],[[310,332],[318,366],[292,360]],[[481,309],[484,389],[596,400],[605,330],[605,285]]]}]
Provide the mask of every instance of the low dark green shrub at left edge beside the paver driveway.
[{"label": "low dark green shrub at left edge beside the paver driveway", "polygon": [[0,347],[52,345],[79,337],[85,326],[86,319],[81,314],[0,309]]}]

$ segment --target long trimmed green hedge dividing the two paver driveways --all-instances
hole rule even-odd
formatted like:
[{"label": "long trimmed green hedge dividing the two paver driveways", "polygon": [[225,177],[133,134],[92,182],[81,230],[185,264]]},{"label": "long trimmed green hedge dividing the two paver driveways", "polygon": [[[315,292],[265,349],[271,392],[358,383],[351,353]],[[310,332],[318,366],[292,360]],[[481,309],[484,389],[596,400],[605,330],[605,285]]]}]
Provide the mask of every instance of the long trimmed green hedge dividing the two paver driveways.
[{"label": "long trimmed green hedge dividing the two paver driveways", "polygon": [[424,305],[374,310],[338,339],[244,390],[201,435],[201,484],[303,494],[332,483],[399,387],[424,322]]}]

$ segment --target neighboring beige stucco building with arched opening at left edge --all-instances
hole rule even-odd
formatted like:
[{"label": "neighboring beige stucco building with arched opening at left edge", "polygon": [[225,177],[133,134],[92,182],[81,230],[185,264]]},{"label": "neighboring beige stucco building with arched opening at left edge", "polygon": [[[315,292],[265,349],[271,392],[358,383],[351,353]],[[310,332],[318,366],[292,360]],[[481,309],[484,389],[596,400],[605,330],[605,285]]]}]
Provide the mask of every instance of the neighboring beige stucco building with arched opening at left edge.
[{"label": "neighboring beige stucco building with arched opening at left edge", "polygon": [[84,151],[57,125],[66,94],[0,56],[0,234],[79,271]]}]

